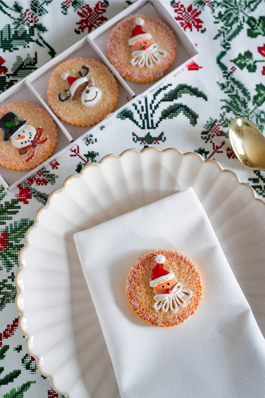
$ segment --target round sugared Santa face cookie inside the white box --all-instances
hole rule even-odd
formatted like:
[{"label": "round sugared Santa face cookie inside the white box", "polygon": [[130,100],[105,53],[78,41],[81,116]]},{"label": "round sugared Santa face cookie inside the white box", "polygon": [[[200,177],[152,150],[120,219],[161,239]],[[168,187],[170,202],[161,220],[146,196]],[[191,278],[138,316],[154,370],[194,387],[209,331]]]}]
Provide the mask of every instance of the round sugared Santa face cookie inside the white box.
[{"label": "round sugared Santa face cookie inside the white box", "polygon": [[111,31],[107,52],[122,77],[150,83],[170,69],[176,56],[176,40],[161,20],[134,15],[119,22]]}]

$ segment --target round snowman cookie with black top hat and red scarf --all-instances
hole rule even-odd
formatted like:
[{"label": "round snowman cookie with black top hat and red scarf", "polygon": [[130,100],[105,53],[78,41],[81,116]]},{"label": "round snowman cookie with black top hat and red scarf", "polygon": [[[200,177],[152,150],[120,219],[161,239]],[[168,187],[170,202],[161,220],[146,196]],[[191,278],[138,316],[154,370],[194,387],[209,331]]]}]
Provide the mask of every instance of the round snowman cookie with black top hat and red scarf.
[{"label": "round snowman cookie with black top hat and red scarf", "polygon": [[26,101],[0,107],[0,164],[13,170],[30,170],[52,154],[56,125],[39,105]]}]

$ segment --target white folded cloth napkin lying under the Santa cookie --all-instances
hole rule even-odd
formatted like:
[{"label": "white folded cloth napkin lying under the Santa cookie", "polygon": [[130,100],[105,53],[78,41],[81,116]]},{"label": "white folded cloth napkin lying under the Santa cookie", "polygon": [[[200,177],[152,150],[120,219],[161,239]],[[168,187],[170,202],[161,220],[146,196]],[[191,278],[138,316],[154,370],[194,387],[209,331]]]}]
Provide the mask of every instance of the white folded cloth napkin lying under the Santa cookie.
[{"label": "white folded cloth napkin lying under the Santa cookie", "polygon": [[[121,397],[264,398],[265,341],[194,191],[174,194],[75,234]],[[191,317],[152,326],[126,297],[131,266],[155,249],[197,266]]]}]

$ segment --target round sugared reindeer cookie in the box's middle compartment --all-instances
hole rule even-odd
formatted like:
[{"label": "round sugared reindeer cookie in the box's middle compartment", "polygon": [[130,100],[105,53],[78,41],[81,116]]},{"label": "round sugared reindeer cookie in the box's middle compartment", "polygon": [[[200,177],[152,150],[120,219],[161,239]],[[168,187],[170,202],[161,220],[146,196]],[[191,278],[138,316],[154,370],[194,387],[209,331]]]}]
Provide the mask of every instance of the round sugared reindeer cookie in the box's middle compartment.
[{"label": "round sugared reindeer cookie in the box's middle compartment", "polygon": [[112,112],[118,85],[110,70],[90,58],[74,58],[52,73],[47,89],[53,111],[67,123],[89,126]]}]

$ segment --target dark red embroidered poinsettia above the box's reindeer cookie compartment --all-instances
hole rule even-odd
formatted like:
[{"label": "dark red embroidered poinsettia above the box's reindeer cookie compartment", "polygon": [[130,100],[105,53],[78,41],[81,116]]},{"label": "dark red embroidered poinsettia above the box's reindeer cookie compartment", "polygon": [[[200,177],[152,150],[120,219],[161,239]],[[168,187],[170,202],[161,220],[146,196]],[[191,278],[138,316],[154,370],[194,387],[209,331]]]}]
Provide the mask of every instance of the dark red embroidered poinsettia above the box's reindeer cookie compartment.
[{"label": "dark red embroidered poinsettia above the box's reindeer cookie compartment", "polygon": [[77,25],[81,32],[84,32],[88,28],[88,33],[91,32],[93,28],[101,25],[107,18],[102,14],[106,12],[107,4],[103,1],[98,1],[94,9],[92,9],[88,4],[83,5],[83,7],[78,11],[78,15],[81,16]]}]

